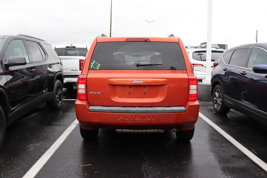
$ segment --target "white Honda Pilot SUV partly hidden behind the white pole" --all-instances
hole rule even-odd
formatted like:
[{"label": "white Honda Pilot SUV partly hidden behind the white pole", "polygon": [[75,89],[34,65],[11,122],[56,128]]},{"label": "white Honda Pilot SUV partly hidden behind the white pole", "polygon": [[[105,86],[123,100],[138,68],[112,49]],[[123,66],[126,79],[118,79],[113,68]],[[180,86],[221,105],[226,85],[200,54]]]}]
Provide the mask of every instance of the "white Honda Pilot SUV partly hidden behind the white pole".
[{"label": "white Honda Pilot SUV partly hidden behind the white pole", "polygon": [[[206,48],[186,48],[186,51],[192,64],[194,74],[197,76],[198,81],[202,81],[202,79],[206,77]],[[213,68],[213,61],[217,60],[223,52],[223,49],[211,48],[211,68]]]}]

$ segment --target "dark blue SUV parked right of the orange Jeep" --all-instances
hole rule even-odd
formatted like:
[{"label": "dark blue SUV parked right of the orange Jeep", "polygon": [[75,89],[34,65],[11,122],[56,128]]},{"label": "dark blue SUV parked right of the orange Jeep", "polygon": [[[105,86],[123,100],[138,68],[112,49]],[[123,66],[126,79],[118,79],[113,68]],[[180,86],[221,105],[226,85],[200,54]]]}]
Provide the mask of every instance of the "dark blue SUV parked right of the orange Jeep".
[{"label": "dark blue SUV parked right of the orange Jeep", "polygon": [[213,63],[215,112],[237,110],[267,125],[267,43],[237,46]]}]

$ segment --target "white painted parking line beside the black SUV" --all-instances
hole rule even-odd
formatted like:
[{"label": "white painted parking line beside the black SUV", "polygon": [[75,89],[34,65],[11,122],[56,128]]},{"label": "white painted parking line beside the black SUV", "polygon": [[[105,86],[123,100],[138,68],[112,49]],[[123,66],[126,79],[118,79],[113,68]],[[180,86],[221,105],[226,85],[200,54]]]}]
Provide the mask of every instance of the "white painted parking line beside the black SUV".
[{"label": "white painted parking line beside the black SUV", "polygon": [[29,171],[23,176],[23,178],[35,177],[77,124],[78,120],[75,119],[72,124],[70,124],[70,126],[65,130],[65,132],[62,133],[62,135],[55,141],[55,143],[44,153],[44,155],[40,157],[40,159],[29,169]]}]

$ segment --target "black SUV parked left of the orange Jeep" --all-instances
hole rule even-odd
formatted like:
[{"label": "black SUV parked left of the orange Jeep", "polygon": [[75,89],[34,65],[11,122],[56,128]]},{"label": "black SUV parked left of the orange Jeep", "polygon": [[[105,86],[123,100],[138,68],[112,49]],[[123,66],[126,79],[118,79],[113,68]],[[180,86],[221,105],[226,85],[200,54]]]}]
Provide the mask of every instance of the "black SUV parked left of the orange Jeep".
[{"label": "black SUV parked left of the orange Jeep", "polygon": [[62,64],[53,47],[27,35],[0,35],[0,148],[6,127],[43,103],[62,105]]}]

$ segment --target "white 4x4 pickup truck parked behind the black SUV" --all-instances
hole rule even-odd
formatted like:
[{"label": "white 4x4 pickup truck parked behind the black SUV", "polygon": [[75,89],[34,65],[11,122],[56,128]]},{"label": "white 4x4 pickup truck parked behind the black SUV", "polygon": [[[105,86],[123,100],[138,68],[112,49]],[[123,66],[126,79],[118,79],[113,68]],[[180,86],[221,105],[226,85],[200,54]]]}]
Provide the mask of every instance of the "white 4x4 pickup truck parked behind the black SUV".
[{"label": "white 4x4 pickup truck parked behind the black SUV", "polygon": [[55,46],[55,51],[63,63],[64,88],[77,86],[77,78],[88,52],[87,46]]}]

